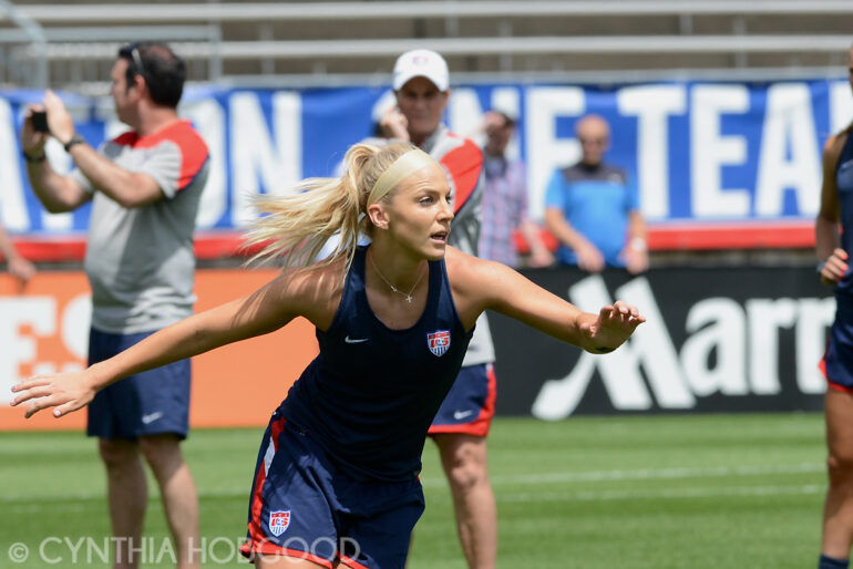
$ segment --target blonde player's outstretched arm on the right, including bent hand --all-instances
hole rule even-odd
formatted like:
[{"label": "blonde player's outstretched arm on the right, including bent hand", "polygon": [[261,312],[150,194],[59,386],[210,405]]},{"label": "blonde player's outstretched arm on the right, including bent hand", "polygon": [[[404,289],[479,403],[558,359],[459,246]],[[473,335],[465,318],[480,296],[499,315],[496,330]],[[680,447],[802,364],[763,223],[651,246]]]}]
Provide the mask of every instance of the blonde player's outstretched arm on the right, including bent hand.
[{"label": "blonde player's outstretched arm on the right, including bent hand", "polygon": [[449,257],[454,300],[467,328],[481,312],[494,310],[588,352],[607,353],[646,321],[621,301],[602,307],[598,314],[584,312],[504,265],[455,250]]}]

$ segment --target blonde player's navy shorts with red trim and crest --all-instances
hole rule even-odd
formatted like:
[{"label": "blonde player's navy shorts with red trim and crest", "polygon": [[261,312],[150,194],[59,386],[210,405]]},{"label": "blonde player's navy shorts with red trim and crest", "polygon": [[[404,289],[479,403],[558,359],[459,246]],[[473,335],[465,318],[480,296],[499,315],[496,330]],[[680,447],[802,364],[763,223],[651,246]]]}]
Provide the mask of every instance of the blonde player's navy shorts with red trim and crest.
[{"label": "blonde player's navy shorts with red trim and crest", "polygon": [[350,477],[305,430],[280,412],[258,452],[240,551],[306,559],[331,568],[402,569],[424,499],[417,477]]}]

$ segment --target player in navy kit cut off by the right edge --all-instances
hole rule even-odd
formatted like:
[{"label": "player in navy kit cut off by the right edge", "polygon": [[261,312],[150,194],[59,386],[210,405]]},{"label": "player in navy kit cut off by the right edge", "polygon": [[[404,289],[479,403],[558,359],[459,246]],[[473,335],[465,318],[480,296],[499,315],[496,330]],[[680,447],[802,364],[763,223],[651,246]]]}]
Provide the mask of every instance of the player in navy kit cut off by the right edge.
[{"label": "player in navy kit cut off by the right edge", "polygon": [[[853,48],[849,53],[853,87]],[[820,368],[825,396],[829,488],[823,508],[819,569],[846,569],[853,542],[853,124],[823,147],[821,207],[814,223],[821,281],[834,287],[837,306]],[[839,231],[841,224],[841,231]]]}]

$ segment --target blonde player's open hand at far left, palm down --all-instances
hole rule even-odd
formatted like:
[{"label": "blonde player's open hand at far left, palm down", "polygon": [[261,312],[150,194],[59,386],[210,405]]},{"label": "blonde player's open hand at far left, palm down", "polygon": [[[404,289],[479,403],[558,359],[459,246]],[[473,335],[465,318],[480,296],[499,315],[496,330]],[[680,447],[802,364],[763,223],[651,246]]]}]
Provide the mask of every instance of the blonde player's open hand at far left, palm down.
[{"label": "blonde player's open hand at far left, palm down", "polygon": [[30,418],[43,408],[56,407],[53,416],[61,417],[89,404],[95,396],[85,371],[35,375],[12,386],[18,396],[12,406],[27,405],[24,417]]}]

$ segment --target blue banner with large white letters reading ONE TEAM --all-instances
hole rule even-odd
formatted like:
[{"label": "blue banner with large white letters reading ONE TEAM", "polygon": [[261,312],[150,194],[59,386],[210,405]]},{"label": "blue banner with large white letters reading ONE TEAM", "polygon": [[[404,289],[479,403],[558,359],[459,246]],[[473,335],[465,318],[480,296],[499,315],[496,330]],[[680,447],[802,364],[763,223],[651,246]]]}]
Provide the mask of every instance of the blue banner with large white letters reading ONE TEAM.
[{"label": "blue banner with large white letters reading ONE TEAM", "polygon": [[[511,153],[527,163],[534,217],[542,216],[554,168],[579,157],[577,118],[597,113],[613,128],[607,159],[635,177],[650,223],[803,220],[818,211],[822,145],[853,120],[850,91],[844,80],[463,85],[453,89],[445,118],[456,133],[476,136],[485,110],[517,113]],[[27,104],[41,96],[0,92],[0,223],[16,234],[79,235],[88,208],[47,214],[27,180],[18,132]],[[93,145],[126,128],[110,99],[61,96]],[[389,104],[390,91],[363,86],[189,89],[181,114],[195,123],[212,155],[199,228],[239,228],[254,215],[254,194],[331,175]],[[55,141],[48,155],[59,172],[72,166]]]}]

